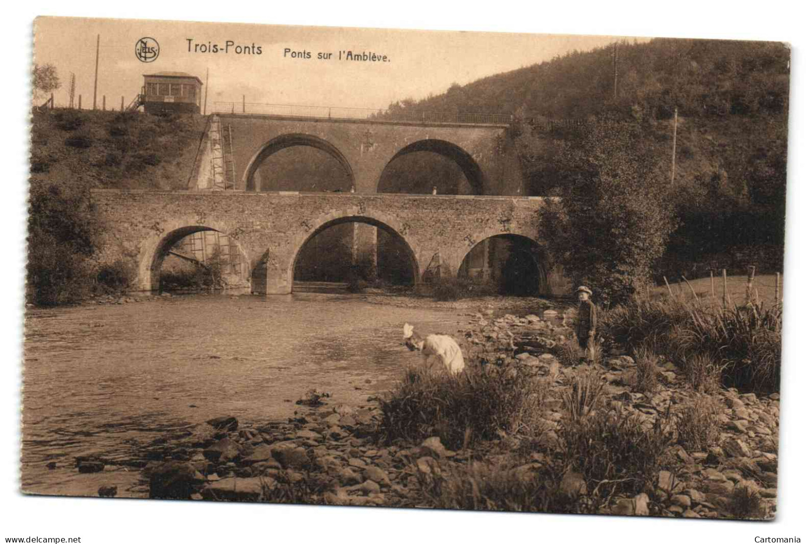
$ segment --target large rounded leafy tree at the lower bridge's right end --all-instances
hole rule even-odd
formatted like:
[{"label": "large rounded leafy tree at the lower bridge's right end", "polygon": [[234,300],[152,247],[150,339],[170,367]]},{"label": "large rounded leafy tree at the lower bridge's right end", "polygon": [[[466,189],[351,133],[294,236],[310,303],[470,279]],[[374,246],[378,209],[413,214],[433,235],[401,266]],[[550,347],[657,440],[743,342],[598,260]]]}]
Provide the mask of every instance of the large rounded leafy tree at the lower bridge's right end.
[{"label": "large rounded leafy tree at the lower bridge's right end", "polygon": [[675,227],[663,171],[638,126],[597,122],[557,158],[560,198],[539,213],[550,254],[576,285],[621,303],[650,280]]}]

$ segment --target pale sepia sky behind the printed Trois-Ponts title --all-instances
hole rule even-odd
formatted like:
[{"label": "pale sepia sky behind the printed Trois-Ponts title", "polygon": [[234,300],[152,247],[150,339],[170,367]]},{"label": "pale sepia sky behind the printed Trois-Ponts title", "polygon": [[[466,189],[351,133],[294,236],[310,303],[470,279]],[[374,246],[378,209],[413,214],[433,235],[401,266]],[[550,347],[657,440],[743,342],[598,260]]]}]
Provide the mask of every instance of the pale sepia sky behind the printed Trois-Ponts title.
[{"label": "pale sepia sky behind the printed Trois-Ponts title", "polygon": [[[407,97],[420,99],[430,93],[442,93],[453,83],[466,84],[619,39],[45,17],[35,21],[35,63],[56,66],[62,82],[55,93],[56,105],[69,102],[70,72],[76,74],[76,95],[82,95],[82,106],[92,105],[98,35],[99,108],[103,95],[107,108],[119,108],[121,97],[128,104],[139,93],[143,73],[189,72],[204,81],[209,68],[208,109],[214,101],[244,99],[255,103],[383,109]],[[160,44],[159,56],[150,63],[135,56],[135,43],[145,36]],[[189,39],[193,41],[189,43]],[[223,48],[228,40],[234,44],[228,52],[202,52],[203,45]],[[247,46],[253,53],[238,54],[237,46]],[[256,53],[257,47],[260,54]],[[310,58],[292,58],[286,50],[308,52]],[[339,61],[339,51],[374,52],[387,60]],[[319,60],[320,52],[333,57]]]}]

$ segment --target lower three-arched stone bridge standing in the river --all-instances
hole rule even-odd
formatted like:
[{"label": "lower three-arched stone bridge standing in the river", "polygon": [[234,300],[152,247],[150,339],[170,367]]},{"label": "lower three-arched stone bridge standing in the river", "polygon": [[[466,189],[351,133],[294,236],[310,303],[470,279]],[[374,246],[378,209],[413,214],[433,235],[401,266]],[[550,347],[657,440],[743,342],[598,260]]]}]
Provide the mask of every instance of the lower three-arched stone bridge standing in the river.
[{"label": "lower three-arched stone bridge standing in the river", "polygon": [[540,291],[549,294],[563,285],[560,274],[546,269],[537,197],[99,189],[92,199],[105,225],[102,262],[131,265],[139,291],[158,289],[165,253],[182,237],[217,230],[237,243],[249,263],[252,292],[288,294],[305,242],[344,222],[400,236],[416,283],[434,263],[443,277],[455,276],[467,253],[488,237],[517,235],[531,241],[542,266]]}]

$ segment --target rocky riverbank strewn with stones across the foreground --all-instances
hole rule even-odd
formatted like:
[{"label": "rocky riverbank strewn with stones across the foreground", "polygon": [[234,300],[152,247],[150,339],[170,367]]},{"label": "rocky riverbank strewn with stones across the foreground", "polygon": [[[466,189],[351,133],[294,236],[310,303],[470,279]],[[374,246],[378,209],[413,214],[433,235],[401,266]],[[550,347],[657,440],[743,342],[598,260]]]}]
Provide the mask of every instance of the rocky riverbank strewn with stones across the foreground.
[{"label": "rocky riverbank strewn with stones across the foreground", "polygon": [[[581,375],[593,373],[602,385],[597,410],[624,414],[646,429],[669,425],[675,439],[664,445],[659,470],[641,492],[615,492],[606,501],[593,501],[600,486],[609,483],[586,482],[574,470],[560,475],[555,492],[575,501],[590,497],[597,513],[774,516],[778,394],[736,389],[698,394],[667,361],[657,369],[658,386],[639,393],[634,387],[638,365],[631,357],[568,361],[559,348],[571,329],[537,315],[493,319],[480,313],[470,317],[462,333],[472,364],[517,367],[546,385],[538,437],[502,433],[500,439],[459,451],[447,450],[437,436],[386,443],[378,404],[356,410],[316,396],[297,402],[297,414],[287,421],[244,426],[225,416],[157,439],[143,455],[152,461],[140,464],[143,490],[154,498],[413,507],[433,506],[434,483],[441,482],[446,492],[447,478],[468,470],[495,472],[511,485],[528,486],[567,455],[563,426],[570,414],[564,398]],[[695,429],[708,431],[698,447],[683,441],[679,422],[702,398],[713,412]],[[77,462],[80,472],[103,468],[103,460]],[[114,492],[101,488],[99,495]],[[478,507],[484,508],[483,502]]]}]

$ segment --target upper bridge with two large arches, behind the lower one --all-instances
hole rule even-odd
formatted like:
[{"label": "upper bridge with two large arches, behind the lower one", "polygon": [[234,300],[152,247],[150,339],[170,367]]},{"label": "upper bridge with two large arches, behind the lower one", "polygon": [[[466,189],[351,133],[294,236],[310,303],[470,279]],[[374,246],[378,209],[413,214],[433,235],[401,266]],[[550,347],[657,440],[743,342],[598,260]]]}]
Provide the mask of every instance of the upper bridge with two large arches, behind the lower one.
[{"label": "upper bridge with two large arches, behind the lower one", "polygon": [[488,117],[429,122],[217,113],[188,188],[214,188],[213,163],[224,171],[228,188],[264,191],[261,163],[288,147],[310,146],[338,161],[359,193],[378,192],[381,174],[394,159],[430,151],[459,165],[476,195],[521,195],[520,167],[506,137],[509,124],[501,122],[507,116]]}]

